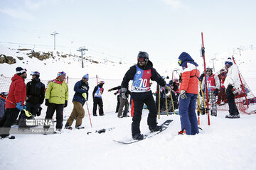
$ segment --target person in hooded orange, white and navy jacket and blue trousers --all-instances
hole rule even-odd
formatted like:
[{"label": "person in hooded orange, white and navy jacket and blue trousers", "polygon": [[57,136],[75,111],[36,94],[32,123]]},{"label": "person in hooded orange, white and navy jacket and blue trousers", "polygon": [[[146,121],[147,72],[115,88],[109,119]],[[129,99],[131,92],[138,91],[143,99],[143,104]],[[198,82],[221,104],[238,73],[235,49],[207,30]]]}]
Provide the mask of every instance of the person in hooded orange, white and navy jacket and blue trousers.
[{"label": "person in hooded orange, white and navy jacket and blue trousers", "polygon": [[181,132],[186,135],[198,134],[198,120],[196,118],[196,98],[198,96],[198,64],[186,52],[178,57],[178,64],[182,67],[179,98],[179,114],[181,116]]}]

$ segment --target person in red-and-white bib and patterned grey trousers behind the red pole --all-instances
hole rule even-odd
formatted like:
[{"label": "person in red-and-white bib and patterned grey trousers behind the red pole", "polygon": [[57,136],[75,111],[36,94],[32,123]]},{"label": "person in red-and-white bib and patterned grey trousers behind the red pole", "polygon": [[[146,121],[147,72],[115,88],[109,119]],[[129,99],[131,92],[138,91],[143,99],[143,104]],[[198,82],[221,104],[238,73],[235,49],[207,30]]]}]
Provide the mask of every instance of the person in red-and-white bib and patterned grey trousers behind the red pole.
[{"label": "person in red-and-white bib and patterned grey trousers behind the red pole", "polygon": [[[216,96],[218,95],[218,90],[220,89],[220,79],[218,78],[217,75],[213,74],[213,70],[211,68],[206,69],[206,79],[207,79],[208,98],[210,101],[210,115],[217,116]],[[203,81],[202,81],[202,89],[204,91],[203,96],[205,101],[207,100],[206,99],[206,79],[203,78]]]}]

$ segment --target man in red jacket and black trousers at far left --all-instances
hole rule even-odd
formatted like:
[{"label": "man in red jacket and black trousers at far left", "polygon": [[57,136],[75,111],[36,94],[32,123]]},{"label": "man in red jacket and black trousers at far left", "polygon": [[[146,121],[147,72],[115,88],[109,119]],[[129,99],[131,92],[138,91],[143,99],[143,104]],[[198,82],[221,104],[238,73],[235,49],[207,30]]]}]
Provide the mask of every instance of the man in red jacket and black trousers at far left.
[{"label": "man in red jacket and black trousers at far left", "polygon": [[[5,137],[15,139],[9,132],[11,130],[11,125],[13,125],[18,117],[18,113],[23,111],[23,109],[26,109],[26,106],[23,106],[26,99],[26,84],[24,82],[26,76],[26,69],[17,67],[16,74],[11,78],[11,85],[6,99],[12,103],[9,101],[6,102],[6,110],[3,118],[0,120],[0,135],[2,139]],[[16,105],[14,103],[16,103]]]}]

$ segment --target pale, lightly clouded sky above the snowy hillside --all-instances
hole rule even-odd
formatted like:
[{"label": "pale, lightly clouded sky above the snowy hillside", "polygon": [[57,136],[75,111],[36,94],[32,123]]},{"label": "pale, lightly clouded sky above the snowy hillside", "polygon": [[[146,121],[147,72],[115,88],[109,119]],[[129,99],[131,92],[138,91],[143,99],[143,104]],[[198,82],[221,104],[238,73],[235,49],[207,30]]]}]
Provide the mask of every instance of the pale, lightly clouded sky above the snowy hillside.
[{"label": "pale, lightly clouded sky above the snowy hillside", "polygon": [[[177,63],[181,52],[202,60],[256,45],[252,0],[13,0],[0,1],[0,45],[102,55],[136,62]],[[230,57],[230,56],[227,56]],[[177,64],[178,67],[178,64]]]}]

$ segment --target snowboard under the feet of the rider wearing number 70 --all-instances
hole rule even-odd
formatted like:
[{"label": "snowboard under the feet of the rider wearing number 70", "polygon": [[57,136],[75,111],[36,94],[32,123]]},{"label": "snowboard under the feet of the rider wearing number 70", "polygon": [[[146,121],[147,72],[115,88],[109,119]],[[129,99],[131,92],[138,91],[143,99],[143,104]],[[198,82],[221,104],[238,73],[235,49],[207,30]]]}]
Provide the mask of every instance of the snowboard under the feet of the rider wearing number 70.
[{"label": "snowboard under the feet of the rider wearing number 70", "polygon": [[[170,123],[174,121],[174,120],[166,120],[164,123],[162,123],[160,126],[162,127],[162,130],[161,131],[158,131],[158,132],[148,132],[144,135],[144,139],[147,139],[149,137],[153,137],[155,135],[158,135],[159,133],[163,132],[164,130],[166,130]],[[122,144],[132,144],[132,143],[135,143],[135,142],[139,142],[139,141],[142,141],[142,140],[114,140],[114,142],[119,142],[119,143],[122,143]]]}]

